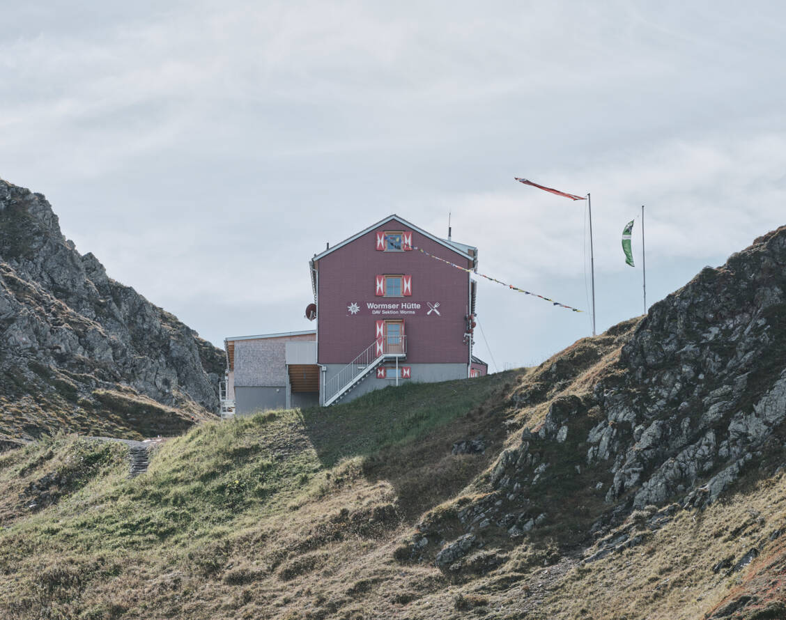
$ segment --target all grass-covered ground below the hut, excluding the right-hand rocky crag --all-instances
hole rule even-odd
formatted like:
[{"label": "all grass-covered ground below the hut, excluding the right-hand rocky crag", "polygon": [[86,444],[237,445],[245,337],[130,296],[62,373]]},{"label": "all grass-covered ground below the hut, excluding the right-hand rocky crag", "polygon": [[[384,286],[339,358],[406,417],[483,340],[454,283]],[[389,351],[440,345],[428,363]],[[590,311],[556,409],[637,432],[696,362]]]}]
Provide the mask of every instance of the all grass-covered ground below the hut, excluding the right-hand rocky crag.
[{"label": "all grass-covered ground below the hut, excluding the right-hand rocky crag", "polygon": [[[536,535],[481,550],[479,559],[501,560],[487,574],[449,579],[395,559],[421,519],[483,493],[501,449],[536,426],[553,398],[616,372],[636,323],[527,372],[202,424],[167,442],[134,480],[105,445],[72,438],[0,455],[0,617],[784,617],[782,472],[754,469],[723,501],[680,511],[645,544],[586,567],[565,546],[586,526],[572,505],[589,505],[581,489],[576,501],[555,490],[556,519]],[[483,455],[450,452],[480,435]],[[784,442],[786,433],[762,457],[767,471],[782,462]],[[75,482],[66,476],[59,503],[31,514],[22,499],[31,482],[73,454],[89,468],[76,468]],[[762,554],[742,570],[712,570],[753,547]],[[744,615],[729,611],[740,596],[756,597]]]}]

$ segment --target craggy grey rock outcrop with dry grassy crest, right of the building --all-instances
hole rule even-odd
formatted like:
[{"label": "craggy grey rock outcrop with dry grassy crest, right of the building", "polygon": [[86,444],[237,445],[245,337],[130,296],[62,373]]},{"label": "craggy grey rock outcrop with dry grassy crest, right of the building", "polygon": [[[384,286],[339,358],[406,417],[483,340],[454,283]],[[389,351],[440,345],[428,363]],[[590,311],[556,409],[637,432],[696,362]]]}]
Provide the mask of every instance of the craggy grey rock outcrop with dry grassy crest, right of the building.
[{"label": "craggy grey rock outcrop with dry grassy crest, right of the building", "polygon": [[469,535],[472,545],[538,530],[574,545],[608,537],[593,560],[640,544],[645,533],[614,530],[632,512],[657,521],[668,518],[660,507],[703,508],[747,471],[782,462],[784,350],[786,227],[536,369],[509,400],[523,429],[487,493],[459,519],[426,519],[421,536],[443,540],[441,559]]}]

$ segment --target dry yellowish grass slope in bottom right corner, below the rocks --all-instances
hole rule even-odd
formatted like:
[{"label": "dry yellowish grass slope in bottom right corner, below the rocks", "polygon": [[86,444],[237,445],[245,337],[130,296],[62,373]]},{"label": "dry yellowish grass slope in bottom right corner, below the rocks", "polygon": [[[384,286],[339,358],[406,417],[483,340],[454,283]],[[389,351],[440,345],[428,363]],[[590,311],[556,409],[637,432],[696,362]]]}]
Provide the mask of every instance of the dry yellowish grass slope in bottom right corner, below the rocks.
[{"label": "dry yellowish grass slope in bottom right corner, below the rocks", "polygon": [[[608,618],[703,618],[756,596],[743,616],[722,616],[786,618],[784,529],[786,475],[747,479],[702,512],[678,512],[663,530],[645,534],[645,545],[571,571],[538,617],[594,618],[603,609]],[[730,572],[751,548],[762,555]]]}]

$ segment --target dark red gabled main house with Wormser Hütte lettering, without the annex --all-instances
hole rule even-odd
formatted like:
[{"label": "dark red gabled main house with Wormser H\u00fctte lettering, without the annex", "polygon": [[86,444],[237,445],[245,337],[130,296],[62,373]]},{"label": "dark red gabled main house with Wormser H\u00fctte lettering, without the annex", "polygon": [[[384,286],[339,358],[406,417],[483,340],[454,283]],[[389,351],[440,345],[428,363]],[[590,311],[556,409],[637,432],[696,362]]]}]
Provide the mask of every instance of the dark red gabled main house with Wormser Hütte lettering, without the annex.
[{"label": "dark red gabled main house with Wormser H\u00fctte lettering, without the annex", "polygon": [[391,215],[314,255],[320,402],[400,384],[476,376],[477,248]]}]

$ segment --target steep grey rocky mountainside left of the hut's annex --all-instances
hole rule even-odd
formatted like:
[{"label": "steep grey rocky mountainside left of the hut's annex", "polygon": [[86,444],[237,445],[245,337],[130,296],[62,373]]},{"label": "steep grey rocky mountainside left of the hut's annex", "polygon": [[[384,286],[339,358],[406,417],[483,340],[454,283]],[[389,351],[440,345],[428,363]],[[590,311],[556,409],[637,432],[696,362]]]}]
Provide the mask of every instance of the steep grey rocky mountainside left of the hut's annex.
[{"label": "steep grey rocky mountainside left of the hut's annex", "polygon": [[0,434],[193,423],[216,411],[223,365],[221,350],[79,254],[44,196],[0,180]]}]

